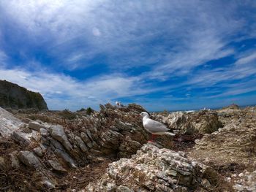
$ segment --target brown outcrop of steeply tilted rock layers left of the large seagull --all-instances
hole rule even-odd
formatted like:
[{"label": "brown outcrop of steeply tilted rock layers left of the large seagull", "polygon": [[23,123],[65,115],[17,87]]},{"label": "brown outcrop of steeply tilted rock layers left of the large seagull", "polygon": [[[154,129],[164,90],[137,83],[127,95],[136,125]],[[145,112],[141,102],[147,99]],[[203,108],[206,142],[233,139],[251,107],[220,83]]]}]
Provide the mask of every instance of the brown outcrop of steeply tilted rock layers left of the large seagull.
[{"label": "brown outcrop of steeply tilted rock layers left of the large seagull", "polygon": [[70,169],[136,153],[149,137],[142,127],[138,106],[100,107],[99,112],[76,118],[64,126],[34,120],[24,123],[11,134],[20,151],[3,156],[3,164],[12,155],[12,169],[19,164],[26,165],[37,172],[41,183],[46,182],[47,176],[44,185],[51,188],[53,185],[49,183],[54,183],[52,178],[56,174],[64,177]]}]

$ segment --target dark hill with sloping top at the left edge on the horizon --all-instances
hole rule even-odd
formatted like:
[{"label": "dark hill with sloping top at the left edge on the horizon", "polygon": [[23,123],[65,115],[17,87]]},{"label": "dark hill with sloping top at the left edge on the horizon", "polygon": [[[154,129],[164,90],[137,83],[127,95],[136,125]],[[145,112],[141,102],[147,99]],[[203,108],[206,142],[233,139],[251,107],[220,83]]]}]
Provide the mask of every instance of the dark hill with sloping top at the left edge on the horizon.
[{"label": "dark hill with sloping top at the left edge on the horizon", "polygon": [[0,80],[0,107],[48,110],[45,99],[40,93],[29,91],[6,80]]}]

